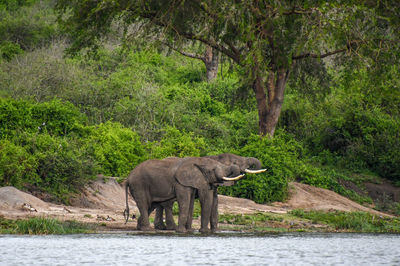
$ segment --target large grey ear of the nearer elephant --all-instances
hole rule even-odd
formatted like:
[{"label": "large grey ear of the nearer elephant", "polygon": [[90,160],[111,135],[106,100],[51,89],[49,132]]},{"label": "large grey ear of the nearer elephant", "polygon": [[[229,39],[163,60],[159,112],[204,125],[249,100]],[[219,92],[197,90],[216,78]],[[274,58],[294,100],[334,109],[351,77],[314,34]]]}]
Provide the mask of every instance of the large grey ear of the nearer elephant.
[{"label": "large grey ear of the nearer elephant", "polygon": [[[175,178],[179,184],[185,187],[192,187],[196,189],[204,189],[209,187],[209,182],[207,182],[210,170],[207,170],[205,166],[194,164],[195,167],[191,168],[191,171],[178,169],[175,174]],[[181,170],[181,171],[180,171]]]}]

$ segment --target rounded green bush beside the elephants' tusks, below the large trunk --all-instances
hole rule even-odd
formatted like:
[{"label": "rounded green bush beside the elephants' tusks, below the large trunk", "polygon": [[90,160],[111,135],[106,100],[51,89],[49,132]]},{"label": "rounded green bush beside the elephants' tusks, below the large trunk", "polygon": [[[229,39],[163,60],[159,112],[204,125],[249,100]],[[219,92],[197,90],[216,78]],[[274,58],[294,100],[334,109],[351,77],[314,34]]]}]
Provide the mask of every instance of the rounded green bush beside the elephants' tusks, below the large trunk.
[{"label": "rounded green bush beside the elephants' tusks, below the large trunk", "polygon": [[246,175],[231,187],[221,187],[223,194],[252,199],[257,203],[287,198],[288,182],[295,179],[303,165],[304,148],[293,137],[278,131],[273,139],[253,135],[241,149],[241,156],[258,158],[267,171]]}]

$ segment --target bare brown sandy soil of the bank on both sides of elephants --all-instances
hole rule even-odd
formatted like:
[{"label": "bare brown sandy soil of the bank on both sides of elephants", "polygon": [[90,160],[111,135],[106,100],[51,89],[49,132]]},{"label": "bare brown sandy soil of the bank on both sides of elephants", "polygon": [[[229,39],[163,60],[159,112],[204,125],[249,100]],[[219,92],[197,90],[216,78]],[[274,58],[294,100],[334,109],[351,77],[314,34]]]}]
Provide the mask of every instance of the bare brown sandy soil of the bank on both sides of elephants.
[{"label": "bare brown sandy soil of the bank on both sides of elephants", "polygon": [[[99,177],[98,180],[90,183],[84,192],[72,201],[72,204],[73,206],[57,205],[44,202],[14,187],[0,188],[0,216],[5,218],[19,219],[45,216],[60,220],[97,223],[103,225],[105,230],[133,230],[136,228],[136,219],[125,224],[123,217],[125,191],[114,178]],[[129,206],[131,214],[139,214],[136,204],[131,198]],[[365,211],[376,215],[389,216],[357,204],[335,192],[296,182],[290,184],[289,200],[284,203],[256,204],[247,199],[219,196],[220,213],[286,213],[292,209]],[[193,227],[199,227],[198,220],[194,220]]]}]

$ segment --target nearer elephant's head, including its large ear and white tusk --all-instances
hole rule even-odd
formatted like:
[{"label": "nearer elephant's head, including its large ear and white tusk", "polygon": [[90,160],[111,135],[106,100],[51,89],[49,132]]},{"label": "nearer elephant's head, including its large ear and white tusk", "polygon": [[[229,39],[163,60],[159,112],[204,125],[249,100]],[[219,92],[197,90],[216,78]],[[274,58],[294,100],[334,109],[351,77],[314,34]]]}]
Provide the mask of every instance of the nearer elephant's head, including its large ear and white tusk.
[{"label": "nearer elephant's head, including its large ear and white tusk", "polygon": [[183,186],[196,189],[224,181],[234,181],[242,178],[237,165],[225,165],[208,158],[192,158],[180,165],[175,172],[176,180]]}]

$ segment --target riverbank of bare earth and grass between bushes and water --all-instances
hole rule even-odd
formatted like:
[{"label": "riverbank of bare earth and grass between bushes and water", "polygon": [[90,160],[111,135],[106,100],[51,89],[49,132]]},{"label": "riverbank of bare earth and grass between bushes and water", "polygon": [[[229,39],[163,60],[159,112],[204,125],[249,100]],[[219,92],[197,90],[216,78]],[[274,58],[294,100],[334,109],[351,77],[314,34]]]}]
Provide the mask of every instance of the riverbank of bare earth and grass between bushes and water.
[{"label": "riverbank of bare earth and grass between bushes and water", "polygon": [[[357,204],[332,191],[296,182],[290,184],[290,190],[286,202],[272,204],[256,204],[251,200],[220,195],[219,229],[234,232],[400,232],[399,218]],[[138,217],[132,199],[129,206],[131,213]],[[43,224],[43,233],[49,227],[47,224],[59,224],[61,232],[63,224],[68,228],[71,225],[79,230],[83,228],[84,232],[138,232],[136,219],[125,224],[124,209],[125,191],[113,178],[99,177],[90,183],[74,198],[72,206],[45,202],[16,188],[2,187],[0,231],[29,233],[29,230],[19,232],[16,228],[21,226],[16,221],[32,220],[37,227]],[[199,209],[195,208],[195,230],[200,227]],[[151,216],[151,222],[153,219]],[[40,228],[37,232],[41,233]]]}]

